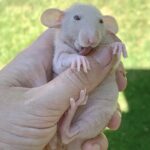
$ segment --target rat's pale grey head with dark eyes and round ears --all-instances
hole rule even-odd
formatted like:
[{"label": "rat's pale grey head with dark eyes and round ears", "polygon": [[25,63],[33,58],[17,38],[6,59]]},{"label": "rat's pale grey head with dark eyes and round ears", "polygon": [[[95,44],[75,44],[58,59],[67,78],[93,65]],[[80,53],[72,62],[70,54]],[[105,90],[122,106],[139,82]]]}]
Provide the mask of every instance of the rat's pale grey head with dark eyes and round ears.
[{"label": "rat's pale grey head with dark eyes and round ears", "polygon": [[61,37],[78,51],[90,51],[105,37],[106,31],[116,33],[117,23],[113,17],[103,16],[92,5],[76,4],[65,12],[46,10],[41,21],[48,27],[60,27]]}]

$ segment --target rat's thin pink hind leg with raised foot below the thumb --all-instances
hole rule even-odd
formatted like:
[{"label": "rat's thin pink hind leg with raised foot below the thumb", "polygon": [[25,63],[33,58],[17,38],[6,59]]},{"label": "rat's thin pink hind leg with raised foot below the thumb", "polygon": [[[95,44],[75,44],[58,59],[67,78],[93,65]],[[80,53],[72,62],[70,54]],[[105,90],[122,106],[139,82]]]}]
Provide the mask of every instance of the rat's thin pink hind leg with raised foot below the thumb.
[{"label": "rat's thin pink hind leg with raised foot below the thumb", "polygon": [[81,90],[78,100],[75,101],[73,98],[70,98],[70,108],[60,128],[61,139],[64,144],[70,143],[78,136],[79,128],[71,128],[71,121],[75,115],[77,108],[81,105],[85,105],[87,99],[88,96],[86,95],[86,90]]}]

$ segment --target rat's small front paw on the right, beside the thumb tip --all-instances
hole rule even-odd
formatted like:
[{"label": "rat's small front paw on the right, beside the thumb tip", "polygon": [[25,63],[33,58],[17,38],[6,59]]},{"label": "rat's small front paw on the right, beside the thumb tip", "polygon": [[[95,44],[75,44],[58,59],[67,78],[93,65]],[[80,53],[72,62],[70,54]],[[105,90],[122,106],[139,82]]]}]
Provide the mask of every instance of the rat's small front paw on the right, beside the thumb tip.
[{"label": "rat's small front paw on the right, beside the thumb tip", "polygon": [[120,59],[121,54],[123,55],[124,58],[127,57],[127,50],[125,47],[125,44],[121,43],[121,42],[114,42],[112,44],[110,44],[110,46],[113,48],[113,55],[117,55],[117,57]]}]

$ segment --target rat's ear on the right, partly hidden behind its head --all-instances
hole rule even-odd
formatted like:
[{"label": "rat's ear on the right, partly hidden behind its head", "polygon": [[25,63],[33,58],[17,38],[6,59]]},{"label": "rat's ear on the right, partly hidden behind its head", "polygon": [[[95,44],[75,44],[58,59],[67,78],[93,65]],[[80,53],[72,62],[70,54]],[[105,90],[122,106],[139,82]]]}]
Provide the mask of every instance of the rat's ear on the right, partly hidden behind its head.
[{"label": "rat's ear on the right, partly hidden behind its head", "polygon": [[116,34],[119,30],[116,19],[112,16],[103,16],[105,27],[108,31]]}]

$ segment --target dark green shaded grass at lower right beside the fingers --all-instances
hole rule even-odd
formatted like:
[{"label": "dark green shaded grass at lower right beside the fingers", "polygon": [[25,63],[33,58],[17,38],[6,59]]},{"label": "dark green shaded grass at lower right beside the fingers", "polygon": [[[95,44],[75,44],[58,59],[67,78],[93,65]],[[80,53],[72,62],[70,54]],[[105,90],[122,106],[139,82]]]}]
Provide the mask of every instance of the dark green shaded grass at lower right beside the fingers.
[{"label": "dark green shaded grass at lower right beside the fingers", "polygon": [[[106,131],[110,150],[149,150],[150,138],[150,70],[129,69],[122,125],[117,132]],[[140,84],[138,84],[140,81]]]}]

